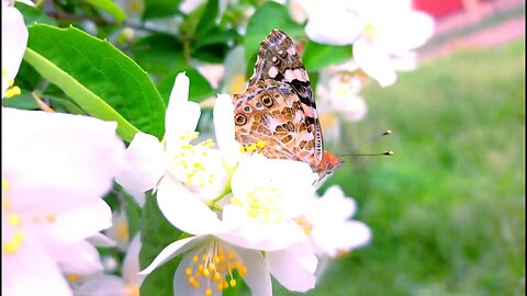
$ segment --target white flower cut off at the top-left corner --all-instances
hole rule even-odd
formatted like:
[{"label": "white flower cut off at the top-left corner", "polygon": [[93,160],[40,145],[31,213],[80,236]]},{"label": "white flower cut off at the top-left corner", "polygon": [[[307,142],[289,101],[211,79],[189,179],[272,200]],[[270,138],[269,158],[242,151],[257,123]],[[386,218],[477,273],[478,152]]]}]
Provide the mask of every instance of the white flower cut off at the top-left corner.
[{"label": "white flower cut off at the top-left corner", "polygon": [[20,94],[20,88],[13,83],[26,45],[27,29],[22,13],[2,0],[2,98]]}]

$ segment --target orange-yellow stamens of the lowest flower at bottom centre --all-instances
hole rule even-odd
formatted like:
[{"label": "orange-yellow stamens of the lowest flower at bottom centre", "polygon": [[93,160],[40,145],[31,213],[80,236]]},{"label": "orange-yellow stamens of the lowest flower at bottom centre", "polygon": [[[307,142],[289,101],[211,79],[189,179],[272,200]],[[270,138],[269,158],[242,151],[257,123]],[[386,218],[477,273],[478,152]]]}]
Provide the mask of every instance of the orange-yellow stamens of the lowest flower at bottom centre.
[{"label": "orange-yellow stamens of the lowest flower at bottom centre", "polygon": [[223,291],[236,286],[233,272],[245,276],[247,267],[236,252],[225,248],[217,241],[206,243],[193,257],[184,269],[189,285],[194,288],[205,288],[205,296],[212,295],[212,289]]}]

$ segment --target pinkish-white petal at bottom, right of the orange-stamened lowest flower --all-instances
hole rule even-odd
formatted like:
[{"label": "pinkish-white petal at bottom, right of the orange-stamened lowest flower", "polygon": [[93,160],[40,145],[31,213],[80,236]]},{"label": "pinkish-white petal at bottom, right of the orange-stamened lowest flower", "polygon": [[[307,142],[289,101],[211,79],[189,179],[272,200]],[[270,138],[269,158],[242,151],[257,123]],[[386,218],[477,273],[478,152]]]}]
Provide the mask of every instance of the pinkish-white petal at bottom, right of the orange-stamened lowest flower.
[{"label": "pinkish-white petal at bottom, right of the orange-stamened lowest flower", "polygon": [[280,251],[266,252],[272,276],[290,291],[306,292],[315,287],[316,257],[307,243]]}]

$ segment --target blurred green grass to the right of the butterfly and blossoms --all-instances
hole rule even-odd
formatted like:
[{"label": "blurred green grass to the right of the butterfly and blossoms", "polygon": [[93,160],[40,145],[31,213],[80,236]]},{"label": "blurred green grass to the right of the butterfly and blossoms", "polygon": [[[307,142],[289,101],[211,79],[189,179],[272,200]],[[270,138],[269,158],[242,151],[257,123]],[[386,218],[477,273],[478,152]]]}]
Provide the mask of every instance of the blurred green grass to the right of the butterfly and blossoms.
[{"label": "blurred green grass to the right of the butterfly and blossoms", "polygon": [[305,295],[525,294],[524,64],[525,39],[366,88],[369,114],[345,143],[391,128],[361,151],[395,155],[350,157],[328,183],[357,200],[373,240]]}]

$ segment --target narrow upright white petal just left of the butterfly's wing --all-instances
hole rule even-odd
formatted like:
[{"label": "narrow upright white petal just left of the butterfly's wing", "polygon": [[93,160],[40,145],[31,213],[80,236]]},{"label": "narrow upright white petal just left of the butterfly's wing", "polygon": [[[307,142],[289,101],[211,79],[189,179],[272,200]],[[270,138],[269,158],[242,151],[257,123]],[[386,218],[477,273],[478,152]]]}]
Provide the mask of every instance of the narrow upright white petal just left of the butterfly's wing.
[{"label": "narrow upright white petal just left of the butterfly's wing", "polygon": [[239,144],[235,139],[234,106],[231,95],[218,94],[214,104],[214,129],[220,152],[229,168],[236,166],[239,158]]}]

